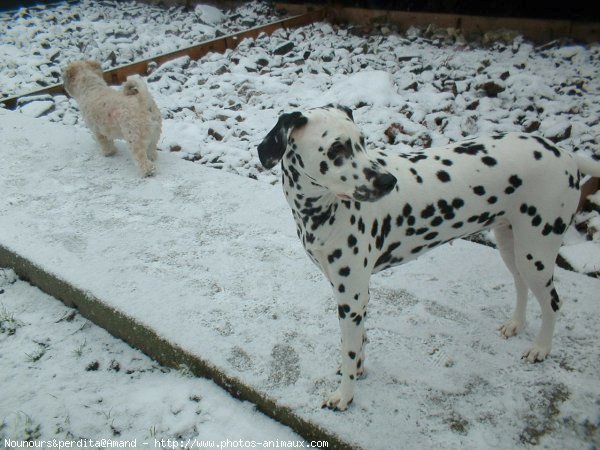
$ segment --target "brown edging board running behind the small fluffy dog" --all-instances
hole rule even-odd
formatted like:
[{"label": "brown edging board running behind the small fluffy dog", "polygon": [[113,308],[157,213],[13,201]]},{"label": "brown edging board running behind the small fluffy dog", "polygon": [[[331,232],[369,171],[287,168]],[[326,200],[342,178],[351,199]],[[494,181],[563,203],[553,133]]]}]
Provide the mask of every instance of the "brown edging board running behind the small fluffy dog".
[{"label": "brown edging board running behind the small fluffy dog", "polygon": [[[197,45],[182,48],[174,52],[165,53],[162,55],[154,56],[152,58],[144,59],[142,61],[136,61],[131,64],[116,67],[111,70],[104,72],[104,79],[109,84],[120,84],[127,79],[129,75],[145,75],[148,73],[148,67],[150,64],[161,65],[167,61],[181,58],[183,56],[189,56],[193,60],[202,58],[204,55],[210,52],[223,53],[228,49],[234,49],[246,38],[256,38],[261,33],[272,34],[279,29],[296,28],[304,25],[309,25],[316,21],[322,20],[325,14],[322,9],[315,9],[291,16],[275,22],[270,22],[266,25],[260,25],[258,27],[250,28],[248,30],[240,31],[239,33],[222,36],[216,39],[210,39],[203,41]],[[58,95],[64,94],[65,90],[62,84],[54,84],[52,86],[45,87],[36,91],[31,91],[12,97],[0,99],[0,103],[4,103],[7,109],[15,109],[18,105],[18,100],[23,97],[37,96],[37,95]]]}]

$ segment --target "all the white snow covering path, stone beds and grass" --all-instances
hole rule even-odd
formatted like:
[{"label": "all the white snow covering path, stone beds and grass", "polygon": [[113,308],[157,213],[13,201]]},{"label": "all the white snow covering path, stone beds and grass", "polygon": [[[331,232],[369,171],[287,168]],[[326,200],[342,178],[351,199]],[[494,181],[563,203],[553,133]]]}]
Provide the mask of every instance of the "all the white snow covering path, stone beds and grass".
[{"label": "all the white snow covering path, stone beds and grass", "polygon": [[[257,3],[185,14],[89,0],[0,13],[0,91],[58,82],[72,59],[98,58],[108,69],[273,17]],[[285,53],[278,51],[283,46]],[[513,302],[510,276],[495,251],[463,241],[374,277],[368,376],[349,411],[321,411],[337,382],[335,305],[297,240],[279,169],[260,167],[256,145],[281,112],[335,102],[354,109],[371,149],[406,151],[537,124],[552,138],[570,125],[559,145],[594,153],[599,56],[597,44],[536,48],[520,37],[448,44],[417,28],[364,34],[317,23],[263,34],[149,74],[165,120],[157,175],[147,180],[138,178],[123,143],[117,156],[100,156],[72,99],[22,100],[15,113],[0,110],[0,245],[353,445],[593,447],[600,426],[599,281],[557,271],[565,308],[552,356],[523,364],[519,355],[535,336],[539,309],[530,302],[522,336],[498,339],[494,330]],[[390,141],[392,125],[400,131]],[[578,270],[597,270],[598,233],[595,239],[571,229],[561,254]],[[14,335],[0,334],[2,389],[11,392],[0,402],[0,437],[30,428],[29,418],[42,437],[108,437],[114,423],[121,436],[138,439],[292,439],[210,383],[162,373],[79,315],[75,325],[54,323],[65,314],[60,305],[22,282],[3,283],[0,311],[23,324]],[[31,306],[32,297],[44,308]],[[36,344],[47,339],[48,348]],[[82,341],[85,356],[74,355]],[[15,348],[46,353],[28,361]],[[133,367],[136,380],[113,373],[113,359]],[[99,370],[85,371],[95,360]],[[81,373],[88,384],[71,384]],[[36,396],[34,380],[42,379],[39,392],[48,395]],[[56,384],[61,379],[65,384]],[[71,391],[81,400],[67,397]],[[190,400],[197,392],[202,400]],[[254,434],[263,427],[264,435]]]}]

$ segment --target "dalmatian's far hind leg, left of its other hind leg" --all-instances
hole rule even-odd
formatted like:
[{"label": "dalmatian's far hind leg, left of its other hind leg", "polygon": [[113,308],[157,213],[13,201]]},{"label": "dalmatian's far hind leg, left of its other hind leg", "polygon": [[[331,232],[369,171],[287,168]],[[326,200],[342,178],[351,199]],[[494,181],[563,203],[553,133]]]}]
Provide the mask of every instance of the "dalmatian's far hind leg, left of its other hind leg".
[{"label": "dalmatian's far hind leg, left of its other hind leg", "polygon": [[517,306],[512,318],[500,326],[502,336],[511,337],[520,333],[525,326],[525,311],[527,307],[527,284],[517,269],[515,261],[515,243],[512,228],[509,224],[499,225],[494,228],[494,235],[498,244],[500,256],[513,276],[517,291]]}]

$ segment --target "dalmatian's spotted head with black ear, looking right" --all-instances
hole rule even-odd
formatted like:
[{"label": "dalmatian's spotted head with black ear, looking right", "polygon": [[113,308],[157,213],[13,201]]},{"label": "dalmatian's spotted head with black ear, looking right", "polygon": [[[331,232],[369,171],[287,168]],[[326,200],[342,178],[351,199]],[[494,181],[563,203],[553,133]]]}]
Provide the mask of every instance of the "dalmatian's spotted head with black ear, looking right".
[{"label": "dalmatian's spotted head with black ear, looking right", "polygon": [[283,160],[284,174],[297,190],[308,181],[341,199],[376,201],[397,182],[369,157],[352,111],[343,106],[281,115],[258,146],[258,156],[267,169]]}]

